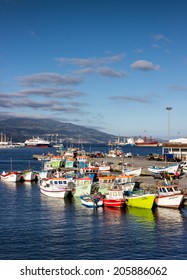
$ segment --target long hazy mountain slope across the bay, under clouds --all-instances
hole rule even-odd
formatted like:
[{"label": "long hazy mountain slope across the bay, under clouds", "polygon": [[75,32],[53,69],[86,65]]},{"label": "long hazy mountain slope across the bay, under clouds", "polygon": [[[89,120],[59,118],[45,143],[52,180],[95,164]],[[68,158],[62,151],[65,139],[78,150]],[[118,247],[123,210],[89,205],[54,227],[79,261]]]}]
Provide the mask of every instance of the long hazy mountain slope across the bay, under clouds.
[{"label": "long hazy mountain slope across the bay, under clouds", "polygon": [[116,138],[96,129],[63,123],[51,119],[11,118],[0,121],[0,133],[13,142],[24,142],[28,138],[42,137],[52,141],[62,139],[71,143],[103,143]]}]

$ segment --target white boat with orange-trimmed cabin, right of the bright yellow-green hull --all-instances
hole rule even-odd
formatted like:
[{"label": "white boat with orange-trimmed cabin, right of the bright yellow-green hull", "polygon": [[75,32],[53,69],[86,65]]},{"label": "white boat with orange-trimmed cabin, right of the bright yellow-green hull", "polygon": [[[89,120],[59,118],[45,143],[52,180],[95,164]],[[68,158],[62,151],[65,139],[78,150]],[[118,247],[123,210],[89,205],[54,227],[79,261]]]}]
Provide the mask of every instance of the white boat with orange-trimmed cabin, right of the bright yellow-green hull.
[{"label": "white boat with orange-trimmed cabin, right of the bright yellow-green hull", "polygon": [[155,204],[160,207],[179,208],[183,199],[184,195],[176,185],[159,185]]}]

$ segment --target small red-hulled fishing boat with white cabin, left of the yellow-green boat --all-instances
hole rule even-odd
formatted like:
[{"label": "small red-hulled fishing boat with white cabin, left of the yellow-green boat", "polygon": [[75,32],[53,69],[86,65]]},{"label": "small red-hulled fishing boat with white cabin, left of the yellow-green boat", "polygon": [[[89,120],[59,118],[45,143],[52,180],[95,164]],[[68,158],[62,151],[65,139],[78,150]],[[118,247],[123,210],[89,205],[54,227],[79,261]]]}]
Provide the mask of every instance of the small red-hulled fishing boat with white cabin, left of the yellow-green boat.
[{"label": "small red-hulled fishing boat with white cabin, left of the yellow-green boat", "polygon": [[107,207],[122,208],[126,203],[126,199],[123,197],[124,191],[122,189],[112,189],[106,198],[103,199],[103,205]]}]

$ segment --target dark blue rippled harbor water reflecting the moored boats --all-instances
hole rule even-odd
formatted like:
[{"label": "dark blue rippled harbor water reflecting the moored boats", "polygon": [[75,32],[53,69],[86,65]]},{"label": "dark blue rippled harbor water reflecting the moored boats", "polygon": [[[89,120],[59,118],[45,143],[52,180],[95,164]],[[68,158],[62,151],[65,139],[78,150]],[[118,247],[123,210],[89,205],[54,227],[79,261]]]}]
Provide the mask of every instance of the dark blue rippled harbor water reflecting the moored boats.
[{"label": "dark blue rippled harbor water reflecting the moored boats", "polygon": [[[108,147],[93,149],[107,152]],[[140,155],[160,151],[126,149]],[[39,170],[42,163],[32,155],[49,151],[1,149],[0,172]],[[0,181],[1,260],[186,260],[186,233],[185,207],[89,209],[79,198],[42,195],[38,183]]]}]

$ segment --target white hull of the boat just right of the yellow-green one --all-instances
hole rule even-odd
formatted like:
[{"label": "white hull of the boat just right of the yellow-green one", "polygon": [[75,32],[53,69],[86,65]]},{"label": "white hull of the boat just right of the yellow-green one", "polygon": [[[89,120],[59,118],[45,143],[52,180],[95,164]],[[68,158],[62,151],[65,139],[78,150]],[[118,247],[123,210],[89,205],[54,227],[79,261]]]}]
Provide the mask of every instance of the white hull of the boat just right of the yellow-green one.
[{"label": "white hull of the boat just right of the yellow-green one", "polygon": [[159,207],[179,208],[183,201],[183,198],[184,198],[183,194],[157,196],[155,198],[155,204]]}]

